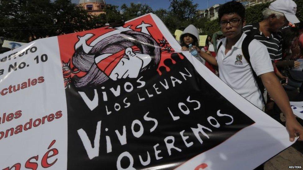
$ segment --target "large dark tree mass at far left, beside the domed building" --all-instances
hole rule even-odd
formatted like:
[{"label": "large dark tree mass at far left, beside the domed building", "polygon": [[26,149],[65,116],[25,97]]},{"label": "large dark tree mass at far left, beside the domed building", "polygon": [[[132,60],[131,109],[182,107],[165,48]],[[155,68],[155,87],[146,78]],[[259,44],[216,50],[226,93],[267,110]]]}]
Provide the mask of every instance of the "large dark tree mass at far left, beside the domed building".
[{"label": "large dark tree mass at far left, beside the domed building", "polygon": [[0,35],[14,41],[28,42],[89,29],[93,26],[91,18],[70,0],[0,1]]}]

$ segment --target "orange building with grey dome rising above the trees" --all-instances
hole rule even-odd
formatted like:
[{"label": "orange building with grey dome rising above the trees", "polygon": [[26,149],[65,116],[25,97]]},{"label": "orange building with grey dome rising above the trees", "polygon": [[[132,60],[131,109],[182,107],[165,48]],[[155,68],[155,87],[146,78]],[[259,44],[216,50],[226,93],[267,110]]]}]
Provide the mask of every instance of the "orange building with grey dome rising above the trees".
[{"label": "orange building with grey dome rising above the trees", "polygon": [[80,0],[79,5],[93,15],[104,14],[106,3],[104,0]]}]

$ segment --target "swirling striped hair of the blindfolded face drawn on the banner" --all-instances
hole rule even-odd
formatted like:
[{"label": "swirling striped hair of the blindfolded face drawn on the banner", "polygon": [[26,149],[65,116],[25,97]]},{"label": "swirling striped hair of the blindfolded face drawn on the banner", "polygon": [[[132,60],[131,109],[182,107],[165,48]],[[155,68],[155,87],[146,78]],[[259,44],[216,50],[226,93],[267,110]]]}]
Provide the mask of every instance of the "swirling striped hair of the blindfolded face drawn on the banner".
[{"label": "swirling striped hair of the blindfolded face drawn on the banner", "polygon": [[76,49],[72,62],[80,71],[86,72],[86,75],[76,78],[74,81],[75,86],[94,87],[107,81],[108,76],[106,76],[106,74],[97,67],[95,56],[106,53],[114,54],[131,46],[138,46],[142,54],[149,54],[152,56],[151,63],[143,68],[141,72],[156,68],[160,63],[160,46],[152,36],[137,31],[121,32],[120,34],[115,34],[99,41],[95,46],[93,46],[88,54],[84,52],[82,46]]}]

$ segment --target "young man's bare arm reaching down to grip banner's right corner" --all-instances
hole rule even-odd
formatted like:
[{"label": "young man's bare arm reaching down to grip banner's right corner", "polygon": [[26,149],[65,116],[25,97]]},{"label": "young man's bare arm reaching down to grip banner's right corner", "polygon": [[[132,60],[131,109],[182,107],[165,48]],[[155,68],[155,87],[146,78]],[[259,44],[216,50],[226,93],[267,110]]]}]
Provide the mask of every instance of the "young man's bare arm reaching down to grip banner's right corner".
[{"label": "young man's bare arm reaching down to grip banner's right corner", "polygon": [[303,127],[296,120],[292,108],[290,107],[289,99],[274,72],[268,72],[261,76],[263,85],[266,87],[271,98],[278,105],[280,110],[286,117],[286,129],[289,133],[289,140],[292,142],[295,139],[295,133],[300,133],[300,140],[303,139]]}]

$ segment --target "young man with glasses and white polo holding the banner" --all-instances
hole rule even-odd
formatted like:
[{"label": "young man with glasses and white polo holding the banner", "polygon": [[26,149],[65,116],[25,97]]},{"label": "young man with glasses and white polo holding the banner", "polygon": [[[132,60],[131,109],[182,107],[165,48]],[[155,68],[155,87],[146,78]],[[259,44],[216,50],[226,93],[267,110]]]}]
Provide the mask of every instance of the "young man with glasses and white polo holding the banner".
[{"label": "young man with glasses and white polo holding the banner", "polygon": [[[219,8],[218,13],[225,38],[219,42],[216,58],[203,51],[200,51],[200,56],[219,67],[219,77],[222,81],[256,107],[263,109],[262,93],[257,83],[257,76],[260,77],[268,93],[286,117],[290,141],[294,141],[295,134],[299,134],[303,139],[303,127],[293,115],[289,99],[274,74],[266,46],[254,39],[251,39],[247,46],[243,46],[245,45],[243,41],[247,42],[250,38],[246,38],[247,35],[242,32],[245,25],[243,5],[236,1],[227,2]],[[250,56],[249,62],[243,53]]]}]

